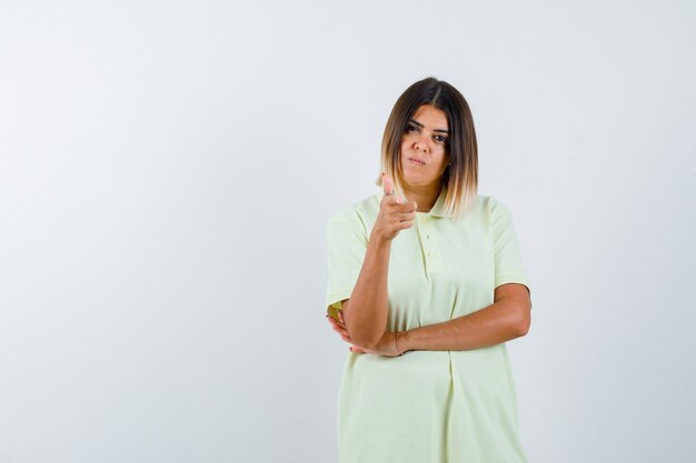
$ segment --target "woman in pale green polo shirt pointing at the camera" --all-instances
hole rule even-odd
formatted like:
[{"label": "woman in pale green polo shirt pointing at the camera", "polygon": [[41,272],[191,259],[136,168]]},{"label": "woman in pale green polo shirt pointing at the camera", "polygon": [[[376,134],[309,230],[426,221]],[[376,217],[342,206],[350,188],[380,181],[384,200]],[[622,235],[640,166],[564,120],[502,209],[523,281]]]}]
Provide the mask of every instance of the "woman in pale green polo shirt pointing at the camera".
[{"label": "woman in pale green polo shirt pointing at the camera", "polygon": [[526,462],[505,342],[529,330],[528,281],[510,211],[477,194],[464,97],[409,87],[381,169],[384,192],[327,224],[328,320],[351,344],[340,462]]}]

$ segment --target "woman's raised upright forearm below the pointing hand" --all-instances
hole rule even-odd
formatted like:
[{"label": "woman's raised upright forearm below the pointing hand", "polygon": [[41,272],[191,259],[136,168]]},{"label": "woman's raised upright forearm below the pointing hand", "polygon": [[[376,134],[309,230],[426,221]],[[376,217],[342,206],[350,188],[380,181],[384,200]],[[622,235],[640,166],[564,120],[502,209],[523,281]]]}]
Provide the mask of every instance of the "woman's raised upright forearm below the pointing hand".
[{"label": "woman's raised upright forearm below the pointing hand", "polygon": [[348,304],[344,308],[346,329],[355,343],[361,348],[370,348],[379,342],[387,328],[390,251],[391,240],[372,233],[358,281]]}]

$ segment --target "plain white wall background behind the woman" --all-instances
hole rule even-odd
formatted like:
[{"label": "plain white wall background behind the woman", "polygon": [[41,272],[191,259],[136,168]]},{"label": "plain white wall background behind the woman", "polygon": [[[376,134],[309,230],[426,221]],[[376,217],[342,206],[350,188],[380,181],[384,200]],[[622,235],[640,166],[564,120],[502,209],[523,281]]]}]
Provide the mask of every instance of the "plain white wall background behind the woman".
[{"label": "plain white wall background behind the woman", "polygon": [[[563,4],[566,3],[566,4]],[[332,462],[325,222],[467,98],[530,462],[696,454],[692,1],[0,7],[0,462]]]}]

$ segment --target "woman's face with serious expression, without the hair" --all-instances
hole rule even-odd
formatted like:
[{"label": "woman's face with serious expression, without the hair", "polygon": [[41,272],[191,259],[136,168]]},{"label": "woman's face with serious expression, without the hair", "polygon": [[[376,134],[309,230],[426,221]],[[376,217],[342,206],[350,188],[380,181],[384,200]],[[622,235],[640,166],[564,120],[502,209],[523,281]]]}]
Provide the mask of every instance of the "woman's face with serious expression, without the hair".
[{"label": "woman's face with serious expression, without the hair", "polygon": [[440,109],[424,104],[414,113],[401,135],[401,174],[404,188],[439,188],[448,164],[445,149],[449,127]]}]

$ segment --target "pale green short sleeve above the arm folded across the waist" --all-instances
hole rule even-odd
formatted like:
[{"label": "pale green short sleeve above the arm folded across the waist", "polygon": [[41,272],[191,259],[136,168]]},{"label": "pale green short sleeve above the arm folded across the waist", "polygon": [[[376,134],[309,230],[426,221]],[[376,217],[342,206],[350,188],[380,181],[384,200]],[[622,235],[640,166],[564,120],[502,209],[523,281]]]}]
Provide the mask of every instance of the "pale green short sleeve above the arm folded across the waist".
[{"label": "pale green short sleeve above the arm folded across the waist", "polygon": [[491,198],[490,227],[495,254],[495,288],[520,283],[529,289],[527,272],[513,225],[513,214],[500,201]]}]

